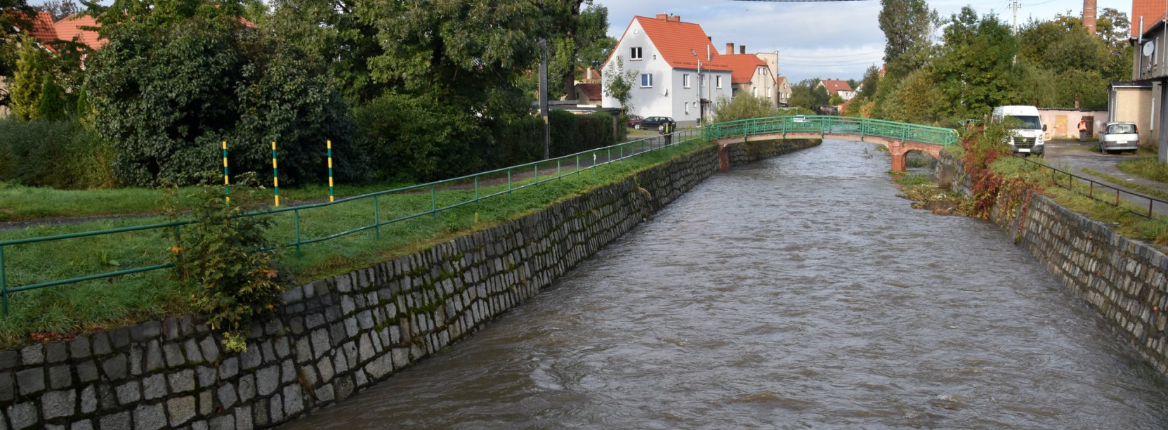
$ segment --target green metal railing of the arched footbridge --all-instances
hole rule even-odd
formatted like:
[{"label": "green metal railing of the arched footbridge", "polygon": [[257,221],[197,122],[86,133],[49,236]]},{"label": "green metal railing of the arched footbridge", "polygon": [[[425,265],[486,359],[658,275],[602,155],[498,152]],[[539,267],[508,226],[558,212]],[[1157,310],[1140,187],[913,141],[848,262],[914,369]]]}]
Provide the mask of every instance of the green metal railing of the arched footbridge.
[{"label": "green metal railing of the arched footbridge", "polygon": [[857,134],[875,136],[916,141],[932,145],[954,145],[958,143],[953,129],[934,127],[883,119],[835,117],[819,115],[797,115],[786,117],[739,119],[726,123],[710,124],[703,129],[709,140],[741,138],[756,134],[776,133],[820,133],[820,134]]}]

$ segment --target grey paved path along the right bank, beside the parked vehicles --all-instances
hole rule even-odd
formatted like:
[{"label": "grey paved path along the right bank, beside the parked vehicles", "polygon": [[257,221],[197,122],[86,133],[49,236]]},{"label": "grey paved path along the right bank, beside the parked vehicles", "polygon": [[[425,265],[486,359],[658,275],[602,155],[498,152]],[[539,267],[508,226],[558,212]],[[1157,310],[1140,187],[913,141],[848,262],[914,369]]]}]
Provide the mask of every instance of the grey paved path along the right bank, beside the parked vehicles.
[{"label": "grey paved path along the right bank, beside the parked vehicles", "polygon": [[[1149,181],[1147,179],[1143,179],[1143,178],[1140,178],[1140,176],[1136,176],[1136,175],[1132,175],[1132,174],[1125,173],[1125,172],[1122,172],[1122,171],[1119,169],[1118,165],[1119,165],[1120,161],[1134,159],[1134,158],[1136,158],[1136,155],[1134,155],[1134,154],[1126,154],[1126,153],[1125,154],[1114,154],[1114,153],[1101,154],[1101,153],[1098,153],[1098,152],[1089,151],[1094,145],[1096,145],[1094,140],[1087,140],[1087,141],[1083,141],[1083,143],[1073,141],[1073,140],[1061,140],[1061,141],[1048,143],[1047,144],[1047,155],[1045,155],[1045,159],[1047,159],[1047,162],[1050,164],[1054,167],[1058,167],[1058,168],[1062,168],[1064,171],[1072,172],[1072,173],[1075,173],[1076,175],[1079,175],[1079,176],[1086,176],[1086,178],[1094,179],[1098,182],[1103,182],[1103,183],[1106,183],[1106,185],[1112,186],[1112,187],[1122,188],[1126,192],[1138,193],[1138,194],[1145,194],[1145,193],[1141,193],[1138,189],[1134,189],[1134,188],[1131,188],[1131,187],[1124,187],[1120,183],[1113,183],[1111,181],[1105,180],[1104,178],[1099,178],[1099,176],[1089,174],[1089,173],[1084,172],[1083,169],[1086,168],[1086,169],[1096,171],[1096,172],[1099,172],[1099,173],[1105,173],[1105,174],[1111,175],[1113,178],[1118,178],[1118,179],[1120,179],[1120,180],[1122,180],[1122,181],[1125,181],[1127,183],[1140,185],[1140,186],[1143,186],[1143,187],[1147,187],[1147,188],[1152,188],[1152,189],[1157,189],[1157,190],[1160,190],[1162,193],[1168,194],[1168,183],[1156,182],[1156,181]],[[1125,200],[1132,202],[1133,204],[1136,204],[1136,206],[1140,206],[1140,207],[1145,207],[1145,208],[1148,204],[1148,201],[1145,200],[1145,199],[1131,196],[1131,195],[1127,195],[1126,193],[1120,193],[1120,195]],[[1153,196],[1153,197],[1155,197],[1155,196]],[[1168,215],[1168,204],[1159,203],[1159,202],[1154,203],[1153,204],[1153,211],[1155,211],[1157,214]]]}]

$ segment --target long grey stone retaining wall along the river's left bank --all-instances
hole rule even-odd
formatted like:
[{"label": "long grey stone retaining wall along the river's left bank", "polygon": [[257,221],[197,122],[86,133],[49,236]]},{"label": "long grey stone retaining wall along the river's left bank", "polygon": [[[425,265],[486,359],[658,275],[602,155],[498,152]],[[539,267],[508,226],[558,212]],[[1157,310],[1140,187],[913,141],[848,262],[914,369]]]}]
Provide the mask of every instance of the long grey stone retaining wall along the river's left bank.
[{"label": "long grey stone retaining wall along the river's left bank", "polygon": [[[736,162],[816,143],[752,143]],[[717,148],[284,294],[228,353],[197,315],[0,352],[0,430],[252,429],[352,396],[482,327],[718,168]]]}]

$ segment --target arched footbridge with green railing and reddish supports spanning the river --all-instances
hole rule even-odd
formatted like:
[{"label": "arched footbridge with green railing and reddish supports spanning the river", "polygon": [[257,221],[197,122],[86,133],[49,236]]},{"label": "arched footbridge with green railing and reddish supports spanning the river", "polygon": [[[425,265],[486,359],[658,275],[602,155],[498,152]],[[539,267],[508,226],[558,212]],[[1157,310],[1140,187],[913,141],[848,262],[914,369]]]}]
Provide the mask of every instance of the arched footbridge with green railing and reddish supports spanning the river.
[{"label": "arched footbridge with green railing and reddish supports spanning the river", "polygon": [[[904,172],[910,151],[940,158],[945,146],[955,145],[957,131],[881,119],[835,116],[786,116],[710,124],[705,138],[721,146],[780,139],[836,139],[880,144],[892,157],[892,172]],[[729,167],[729,166],[724,166]]]}]

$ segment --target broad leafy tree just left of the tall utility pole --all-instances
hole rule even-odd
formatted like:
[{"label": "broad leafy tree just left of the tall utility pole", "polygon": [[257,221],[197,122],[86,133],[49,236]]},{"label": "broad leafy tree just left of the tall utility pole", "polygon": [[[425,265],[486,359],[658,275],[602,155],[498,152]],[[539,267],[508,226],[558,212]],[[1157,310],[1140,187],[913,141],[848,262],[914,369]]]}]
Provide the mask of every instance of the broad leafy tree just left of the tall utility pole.
[{"label": "broad leafy tree just left of the tall utility pole", "polygon": [[368,1],[356,12],[373,23],[383,49],[369,58],[374,82],[432,93],[468,115],[501,118],[530,109],[514,100],[527,97],[516,81],[537,58],[538,41],[547,35],[544,11],[536,2]]}]

